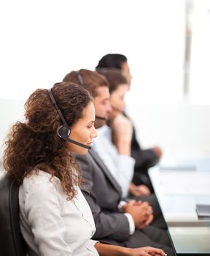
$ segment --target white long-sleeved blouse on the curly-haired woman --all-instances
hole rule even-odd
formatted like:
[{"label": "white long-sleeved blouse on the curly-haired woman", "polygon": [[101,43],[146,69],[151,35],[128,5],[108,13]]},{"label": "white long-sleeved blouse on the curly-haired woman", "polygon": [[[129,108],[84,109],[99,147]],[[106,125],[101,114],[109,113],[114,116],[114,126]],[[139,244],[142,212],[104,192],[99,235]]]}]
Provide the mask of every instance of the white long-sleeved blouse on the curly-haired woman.
[{"label": "white long-sleeved blouse on the curly-haired woman", "polygon": [[79,187],[66,200],[61,181],[42,170],[24,178],[19,189],[20,229],[28,256],[98,255],[90,207]]}]

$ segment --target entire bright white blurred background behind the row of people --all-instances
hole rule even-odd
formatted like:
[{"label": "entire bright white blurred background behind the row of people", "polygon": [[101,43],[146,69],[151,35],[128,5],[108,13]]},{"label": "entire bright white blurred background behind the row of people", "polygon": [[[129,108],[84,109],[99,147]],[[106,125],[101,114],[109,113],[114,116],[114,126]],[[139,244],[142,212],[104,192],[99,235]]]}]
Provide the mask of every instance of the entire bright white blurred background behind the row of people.
[{"label": "entire bright white blurred background behind the row of people", "polygon": [[1,144],[32,91],[122,53],[141,146],[166,162],[210,157],[209,0],[7,0],[0,26]]}]

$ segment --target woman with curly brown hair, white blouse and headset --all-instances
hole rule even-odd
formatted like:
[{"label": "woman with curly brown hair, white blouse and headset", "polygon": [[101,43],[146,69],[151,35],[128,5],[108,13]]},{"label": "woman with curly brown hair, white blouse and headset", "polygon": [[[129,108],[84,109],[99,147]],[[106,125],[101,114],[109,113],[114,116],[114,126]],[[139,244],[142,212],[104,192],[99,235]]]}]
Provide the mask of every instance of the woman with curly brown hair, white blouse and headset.
[{"label": "woman with curly brown hair, white blouse and headset", "polygon": [[96,231],[72,153],[86,154],[93,138],[93,99],[82,86],[56,83],[28,98],[26,121],[9,133],[4,167],[20,184],[20,229],[28,256],[164,255],[91,240]]}]

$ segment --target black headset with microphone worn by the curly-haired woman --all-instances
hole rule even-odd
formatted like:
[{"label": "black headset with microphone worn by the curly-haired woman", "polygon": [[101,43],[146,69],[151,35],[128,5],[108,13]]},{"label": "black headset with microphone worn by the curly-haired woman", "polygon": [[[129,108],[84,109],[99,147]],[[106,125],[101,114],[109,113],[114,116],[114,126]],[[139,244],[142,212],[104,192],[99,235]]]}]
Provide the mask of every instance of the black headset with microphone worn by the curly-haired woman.
[{"label": "black headset with microphone worn by the curly-haired woman", "polygon": [[90,146],[87,146],[87,145],[85,145],[83,143],[80,143],[80,142],[78,142],[76,140],[71,140],[69,138],[69,135],[71,134],[71,129],[70,129],[69,125],[66,123],[66,119],[64,118],[63,114],[61,113],[61,110],[58,108],[58,105],[57,105],[57,103],[55,101],[55,98],[54,98],[54,96],[52,94],[52,89],[48,89],[48,94],[50,96],[52,104],[54,105],[55,109],[57,110],[58,115],[60,116],[61,121],[63,123],[61,125],[61,127],[58,127],[58,129],[57,129],[58,136],[60,138],[62,138],[63,140],[69,141],[69,142],[71,142],[71,143],[73,143],[73,144],[75,144],[77,146],[81,146],[82,148],[91,149]]}]

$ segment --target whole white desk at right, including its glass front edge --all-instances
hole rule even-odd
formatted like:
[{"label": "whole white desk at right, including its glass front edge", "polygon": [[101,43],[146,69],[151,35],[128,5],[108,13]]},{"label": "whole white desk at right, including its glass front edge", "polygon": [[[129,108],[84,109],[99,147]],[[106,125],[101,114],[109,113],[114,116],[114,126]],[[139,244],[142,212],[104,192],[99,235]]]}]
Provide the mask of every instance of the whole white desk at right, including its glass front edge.
[{"label": "whole white desk at right, including its glass front edge", "polygon": [[149,169],[176,255],[210,255],[210,217],[200,218],[196,203],[210,204],[209,171]]}]

